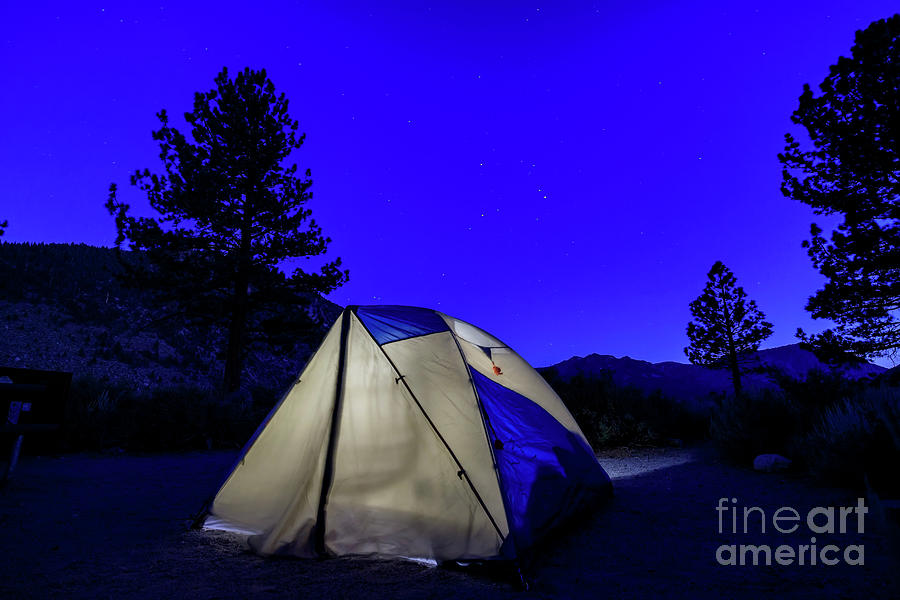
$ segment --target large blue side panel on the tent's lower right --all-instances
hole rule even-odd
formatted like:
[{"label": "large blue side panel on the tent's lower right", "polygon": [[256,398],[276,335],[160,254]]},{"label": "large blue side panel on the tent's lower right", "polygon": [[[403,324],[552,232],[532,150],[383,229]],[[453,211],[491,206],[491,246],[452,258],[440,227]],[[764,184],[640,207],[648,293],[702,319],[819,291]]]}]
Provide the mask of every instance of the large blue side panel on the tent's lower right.
[{"label": "large blue side panel on the tent's lower right", "polygon": [[517,547],[504,552],[515,555],[580,509],[608,496],[612,486],[581,437],[525,396],[469,369],[487,413]]}]

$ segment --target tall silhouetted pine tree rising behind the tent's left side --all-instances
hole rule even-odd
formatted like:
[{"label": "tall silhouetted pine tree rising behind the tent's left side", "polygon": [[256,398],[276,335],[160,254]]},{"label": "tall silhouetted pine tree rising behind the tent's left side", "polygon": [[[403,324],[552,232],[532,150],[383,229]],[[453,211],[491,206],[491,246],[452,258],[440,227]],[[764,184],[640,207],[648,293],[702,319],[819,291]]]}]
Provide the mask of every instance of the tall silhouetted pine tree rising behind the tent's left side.
[{"label": "tall silhouetted pine tree rising behind the tent's left side", "polygon": [[[157,114],[164,174],[137,171],[131,184],[145,193],[155,218],[129,215],[129,205],[110,186],[106,208],[115,216],[117,246],[136,251],[123,264],[131,285],[153,290],[160,302],[175,302],[197,322],[227,327],[223,389],[235,391],[248,327],[267,309],[305,304],[312,292],[326,293],[347,281],[340,258],[319,272],[279,270],[285,259],[323,254],[331,241],[305,207],[312,197],[309,169],[283,166],[305,134],[288,115],[288,101],[264,70],[245,69],[236,78],[223,69],[215,89],[194,96],[184,115],[187,136]],[[261,327],[264,324],[259,324]],[[278,329],[284,323],[268,324]]]}]

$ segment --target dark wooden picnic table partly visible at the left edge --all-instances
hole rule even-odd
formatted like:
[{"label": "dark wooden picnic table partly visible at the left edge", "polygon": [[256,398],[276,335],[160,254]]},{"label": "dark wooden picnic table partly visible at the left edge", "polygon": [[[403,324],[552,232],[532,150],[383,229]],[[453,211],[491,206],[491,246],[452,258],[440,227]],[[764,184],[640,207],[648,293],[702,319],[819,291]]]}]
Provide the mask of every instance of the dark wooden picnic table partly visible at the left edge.
[{"label": "dark wooden picnic table partly visible at the left edge", "polygon": [[0,466],[0,487],[12,476],[26,433],[55,431],[66,417],[72,374],[0,367],[0,437],[9,457]]}]

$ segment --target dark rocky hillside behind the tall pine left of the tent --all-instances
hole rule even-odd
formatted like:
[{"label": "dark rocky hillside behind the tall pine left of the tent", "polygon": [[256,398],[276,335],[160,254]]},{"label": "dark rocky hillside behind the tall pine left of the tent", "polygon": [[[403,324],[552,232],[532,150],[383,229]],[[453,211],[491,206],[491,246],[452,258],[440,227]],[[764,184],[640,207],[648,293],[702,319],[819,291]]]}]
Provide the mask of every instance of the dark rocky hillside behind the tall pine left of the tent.
[{"label": "dark rocky hillside behind the tall pine left of the tent", "polygon": [[[177,306],[156,306],[149,294],[122,286],[121,269],[109,248],[0,244],[0,364],[71,371],[135,389],[214,387],[223,331],[197,326]],[[278,348],[253,343],[245,389],[287,385],[340,308],[310,296],[306,305],[286,310],[302,311],[308,331]]]}]

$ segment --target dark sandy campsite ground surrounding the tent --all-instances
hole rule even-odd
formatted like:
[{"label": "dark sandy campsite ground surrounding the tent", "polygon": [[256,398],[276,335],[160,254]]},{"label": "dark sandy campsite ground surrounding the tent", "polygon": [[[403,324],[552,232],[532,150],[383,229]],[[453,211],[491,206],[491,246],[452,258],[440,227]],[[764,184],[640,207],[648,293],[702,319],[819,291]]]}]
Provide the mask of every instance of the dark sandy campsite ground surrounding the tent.
[{"label": "dark sandy campsite ground surrounding the tent", "polygon": [[721,544],[810,536],[719,534],[720,497],[770,515],[856,498],[735,468],[707,448],[602,454],[614,500],[542,549],[528,592],[402,561],[263,559],[238,536],[187,531],[234,457],[26,457],[0,492],[0,598],[900,598],[900,554],[883,528],[818,536],[820,547],[864,545],[863,566],[719,565]]}]

